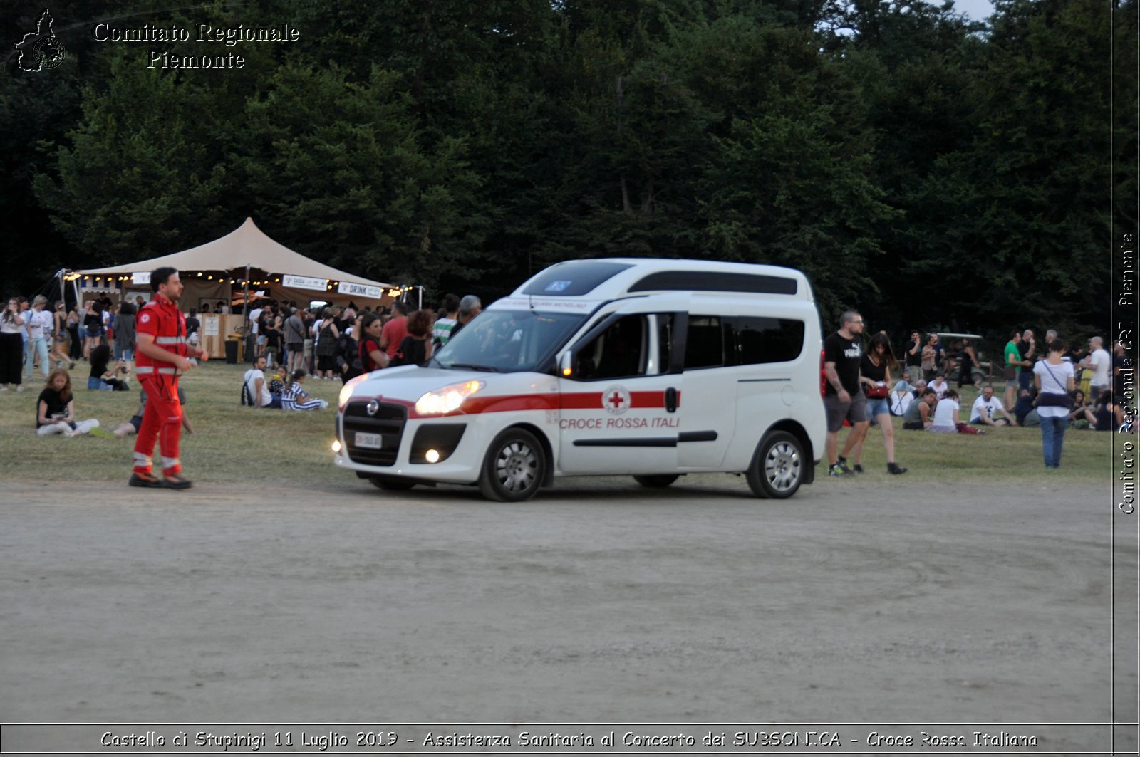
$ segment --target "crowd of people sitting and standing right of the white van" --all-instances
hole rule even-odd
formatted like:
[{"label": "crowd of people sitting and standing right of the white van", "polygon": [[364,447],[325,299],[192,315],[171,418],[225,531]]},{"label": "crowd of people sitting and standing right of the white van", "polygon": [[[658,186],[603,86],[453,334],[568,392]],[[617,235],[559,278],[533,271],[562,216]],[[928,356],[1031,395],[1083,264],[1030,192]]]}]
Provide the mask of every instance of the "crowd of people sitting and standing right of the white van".
[{"label": "crowd of people sitting and standing right of the white van", "polygon": [[[958,389],[975,383],[979,366],[969,339],[952,350],[943,349],[938,334],[925,339],[911,332],[903,348],[904,377],[894,385],[891,371],[899,365],[886,332],[874,334],[863,350],[863,319],[845,312],[840,328],[824,340],[824,407],[828,416],[826,455],[830,475],[863,472],[863,441],[872,424],[883,433],[889,473],[905,473],[895,462],[889,415],[901,415],[903,429],[934,433],[984,434],[1001,426],[1040,426],[1047,469],[1060,466],[1065,431],[1091,429],[1130,433],[1131,423],[1117,401],[1123,396],[1127,351],[1123,342],[1110,356],[1100,336],[1086,348],[1070,348],[1050,329],[1039,350],[1032,329],[1012,332],[1003,350],[1004,402],[985,383],[968,414],[962,417],[961,397],[947,376],[956,375]],[[1082,384],[1089,386],[1085,392]],[[838,433],[852,426],[842,453]]]}]

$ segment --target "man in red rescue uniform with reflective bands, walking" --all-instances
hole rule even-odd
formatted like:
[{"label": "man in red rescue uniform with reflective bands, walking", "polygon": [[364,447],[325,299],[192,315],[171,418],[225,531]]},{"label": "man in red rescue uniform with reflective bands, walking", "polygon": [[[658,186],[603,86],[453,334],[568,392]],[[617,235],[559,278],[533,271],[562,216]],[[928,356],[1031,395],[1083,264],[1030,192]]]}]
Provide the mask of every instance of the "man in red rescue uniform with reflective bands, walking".
[{"label": "man in red rescue uniform with reflective bands, walking", "polygon": [[[178,401],[178,376],[195,366],[197,357],[209,360],[205,350],[186,343],[186,318],[178,309],[182,283],[174,268],[158,268],[150,274],[154,299],[139,310],[136,320],[135,375],[147,393],[142,423],[135,442],[132,487],[189,489],[178,459],[178,438],[182,407]],[[162,447],[162,477],[150,472],[155,441]]]}]

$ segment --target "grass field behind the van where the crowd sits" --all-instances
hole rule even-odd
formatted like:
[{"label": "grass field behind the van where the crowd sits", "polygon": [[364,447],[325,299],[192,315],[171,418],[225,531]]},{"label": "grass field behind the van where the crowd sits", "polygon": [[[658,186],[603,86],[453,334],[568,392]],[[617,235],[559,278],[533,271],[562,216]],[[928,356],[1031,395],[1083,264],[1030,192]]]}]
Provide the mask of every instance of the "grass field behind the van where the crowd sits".
[{"label": "grass field behind the van where the crowd sits", "polygon": [[[327,399],[325,410],[284,413],[239,405],[242,375],[249,366],[211,361],[181,380],[186,413],[194,434],[182,434],[181,457],[188,478],[203,482],[296,486],[309,490],[353,485],[351,473],[332,463],[333,421],[340,381],[309,377],[306,389]],[[78,420],[98,418],[112,430],[138,407],[133,391],[88,391],[87,364],[72,372]],[[39,376],[25,391],[0,393],[0,478],[21,481],[90,481],[124,483],[130,474],[135,437],[38,437],[34,406],[42,389]],[[963,413],[976,392],[963,392]],[[963,418],[966,420],[966,418]],[[1041,457],[1040,429],[994,429],[985,436],[933,434],[903,431],[895,418],[896,457],[910,469],[905,477],[887,477],[882,436],[872,426],[863,465],[868,477],[883,485],[906,479],[923,481],[1010,480],[1107,483],[1113,480],[1113,437],[1069,430],[1059,471],[1047,471]],[[840,436],[840,445],[844,436]],[[1117,441],[1117,445],[1119,442]],[[821,467],[817,473],[823,473]],[[364,482],[360,482],[364,483]]]}]

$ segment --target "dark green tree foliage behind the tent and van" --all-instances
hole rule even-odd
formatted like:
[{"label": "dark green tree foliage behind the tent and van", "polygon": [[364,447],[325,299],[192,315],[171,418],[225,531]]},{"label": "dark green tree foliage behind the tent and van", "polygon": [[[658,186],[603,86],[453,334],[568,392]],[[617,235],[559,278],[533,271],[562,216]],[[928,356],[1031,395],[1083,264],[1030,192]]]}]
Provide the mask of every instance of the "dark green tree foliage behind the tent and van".
[{"label": "dark green tree foliage behind the tent and van", "polygon": [[435,291],[494,296],[576,257],[707,258],[804,269],[825,319],[1075,331],[1106,326],[1110,227],[1135,221],[1135,112],[1113,109],[1135,101],[1131,1],[997,0],[986,23],[920,0],[135,10],[301,39],[218,48],[247,58],[228,71],[80,38],[58,70],[9,63],[0,108],[25,127],[6,130],[3,212],[58,241],[25,278],[252,215]]}]

